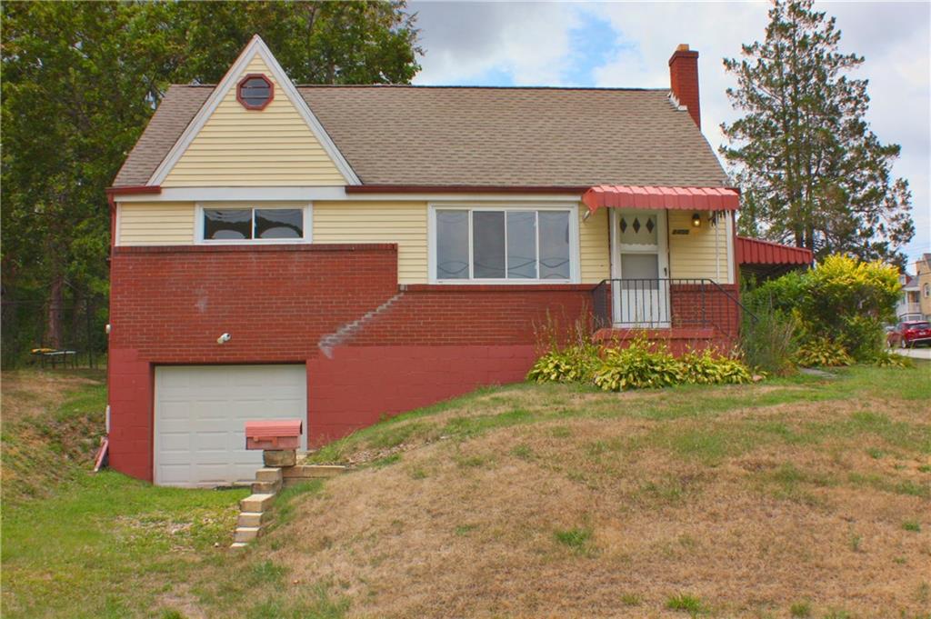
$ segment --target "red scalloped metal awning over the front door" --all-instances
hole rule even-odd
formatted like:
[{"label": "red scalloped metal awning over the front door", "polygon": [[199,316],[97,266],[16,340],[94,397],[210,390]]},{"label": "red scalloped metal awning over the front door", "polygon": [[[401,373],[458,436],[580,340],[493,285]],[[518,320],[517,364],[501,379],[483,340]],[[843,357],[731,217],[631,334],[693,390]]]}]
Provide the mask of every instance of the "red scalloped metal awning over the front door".
[{"label": "red scalloped metal awning over the front door", "polygon": [[725,187],[654,187],[649,185],[596,185],[582,195],[594,212],[613,209],[736,210],[740,195]]}]

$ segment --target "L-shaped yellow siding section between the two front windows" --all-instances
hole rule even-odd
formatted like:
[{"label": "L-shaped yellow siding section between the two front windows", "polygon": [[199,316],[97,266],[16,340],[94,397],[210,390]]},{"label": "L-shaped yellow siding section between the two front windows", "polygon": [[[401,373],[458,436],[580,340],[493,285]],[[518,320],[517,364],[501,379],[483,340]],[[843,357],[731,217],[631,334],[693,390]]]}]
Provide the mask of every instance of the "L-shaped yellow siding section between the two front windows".
[{"label": "L-shaped yellow siding section between the two front windows", "polygon": [[425,284],[425,202],[315,202],[314,243],[397,243],[398,283]]}]

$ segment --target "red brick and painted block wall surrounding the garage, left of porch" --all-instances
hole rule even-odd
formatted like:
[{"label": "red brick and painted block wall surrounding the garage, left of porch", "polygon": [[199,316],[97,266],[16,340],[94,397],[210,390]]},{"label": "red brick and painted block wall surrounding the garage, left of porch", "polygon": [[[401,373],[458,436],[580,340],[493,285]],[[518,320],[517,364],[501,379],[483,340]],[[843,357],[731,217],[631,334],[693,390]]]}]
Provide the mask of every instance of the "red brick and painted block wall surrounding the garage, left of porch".
[{"label": "red brick and painted block wall surrounding the garage, left of porch", "polygon": [[306,363],[319,444],[520,380],[534,330],[590,306],[589,286],[398,287],[397,258],[395,245],[115,248],[111,464],[152,478],[156,365]]}]

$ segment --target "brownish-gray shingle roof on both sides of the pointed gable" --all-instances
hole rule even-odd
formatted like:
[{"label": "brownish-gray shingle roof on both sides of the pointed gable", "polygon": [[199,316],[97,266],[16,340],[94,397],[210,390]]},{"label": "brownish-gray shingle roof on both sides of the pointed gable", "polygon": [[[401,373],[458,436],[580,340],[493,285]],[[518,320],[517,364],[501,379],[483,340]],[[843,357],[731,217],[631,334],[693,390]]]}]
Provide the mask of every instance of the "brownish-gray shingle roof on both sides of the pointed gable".
[{"label": "brownish-gray shingle roof on both sides of the pointed gable", "polygon": [[[366,184],[722,186],[708,141],[668,90],[298,87]],[[144,184],[209,96],[174,86],[116,186]]]}]

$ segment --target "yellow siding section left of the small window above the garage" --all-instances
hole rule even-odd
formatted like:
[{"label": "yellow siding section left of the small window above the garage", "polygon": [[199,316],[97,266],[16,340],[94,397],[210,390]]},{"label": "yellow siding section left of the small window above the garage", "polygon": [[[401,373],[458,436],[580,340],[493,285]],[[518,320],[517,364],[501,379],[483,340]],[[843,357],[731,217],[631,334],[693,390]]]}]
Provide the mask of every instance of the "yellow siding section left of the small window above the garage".
[{"label": "yellow siding section left of the small window above the garage", "polygon": [[123,202],[118,245],[192,245],[194,202]]}]

